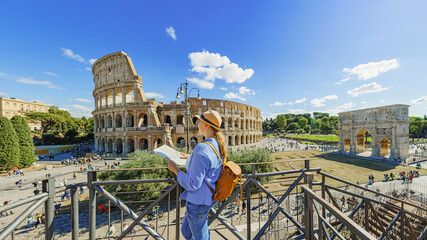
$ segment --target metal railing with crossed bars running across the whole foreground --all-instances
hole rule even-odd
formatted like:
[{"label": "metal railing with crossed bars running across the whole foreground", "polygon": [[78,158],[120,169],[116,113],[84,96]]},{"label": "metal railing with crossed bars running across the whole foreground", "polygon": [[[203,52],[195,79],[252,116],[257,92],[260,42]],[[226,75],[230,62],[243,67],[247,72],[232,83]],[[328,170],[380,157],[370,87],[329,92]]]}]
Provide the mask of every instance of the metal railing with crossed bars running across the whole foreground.
[{"label": "metal railing with crossed bars running across the whole foreground", "polygon": [[[290,171],[275,171],[269,173],[257,173],[256,167],[260,164],[278,164],[292,161],[304,161],[304,168]],[[342,180],[332,175],[326,174],[320,168],[310,168],[309,159],[297,159],[289,161],[278,161],[268,163],[249,163],[241,164],[249,165],[251,173],[242,175],[245,180],[241,186],[236,186],[234,192],[224,201],[218,203],[216,207],[211,209],[211,214],[208,219],[210,229],[220,229],[221,234],[227,235],[229,238],[237,239],[288,239],[288,238],[305,238],[305,239],[334,239],[336,237],[345,239],[342,234],[346,231],[350,236],[360,239],[375,239],[369,232],[367,224],[360,223],[358,219],[367,219],[369,221],[381,222],[378,216],[378,207],[385,206],[395,209],[398,213],[394,216],[393,220],[387,226],[382,227],[382,238],[388,238],[390,234],[397,234],[396,226],[400,229],[399,234],[401,237],[408,237],[408,239],[418,236],[418,239],[423,239],[426,236],[427,230],[424,228],[422,231],[415,231],[411,226],[412,222],[416,220],[425,221],[427,219],[423,216],[427,209],[420,207],[416,204],[405,202],[400,199],[388,196],[383,193],[376,192],[369,188],[361,187],[349,181]],[[11,236],[14,239],[14,232],[17,227],[32,214],[37,208],[44,204],[44,215],[46,221],[44,238],[48,240],[55,239],[54,229],[54,198],[55,196],[67,189],[71,191],[71,237],[72,239],[79,239],[83,234],[88,234],[88,239],[99,238],[99,231],[105,222],[97,222],[97,212],[99,202],[101,199],[108,201],[108,225],[107,232],[110,232],[111,212],[112,206],[120,211],[120,225],[123,225],[124,214],[129,216],[132,223],[126,228],[122,229],[120,234],[117,233],[114,237],[116,239],[124,239],[129,237],[129,234],[136,228],[143,229],[138,232],[138,236],[146,237],[147,234],[154,239],[180,239],[180,225],[181,225],[181,212],[182,204],[179,200],[181,187],[176,179],[136,179],[136,180],[109,180],[99,181],[99,172],[108,171],[129,171],[129,170],[153,170],[165,169],[159,168],[134,168],[134,169],[110,169],[101,171],[87,171],[87,182],[68,185],[66,189],[55,189],[55,179],[46,178],[42,179],[42,193],[36,196],[31,196],[20,201],[13,202],[0,209],[0,213],[4,213],[16,207],[30,204],[25,211],[11,221],[5,228],[1,229],[0,239],[5,239]],[[314,173],[322,178],[321,182],[314,181]],[[261,177],[273,177],[273,181],[260,182]],[[334,187],[326,183],[326,179],[339,182],[342,187]],[[124,201],[124,194],[140,194],[150,192],[148,190],[139,189],[131,192],[109,192],[108,186],[112,185],[135,185],[135,184],[167,184],[166,189],[150,190],[151,192],[158,191],[160,196],[156,199],[145,199],[141,201]],[[276,184],[276,191],[271,191],[270,185]],[[79,228],[79,201],[78,188],[87,185],[88,188],[88,224],[87,233],[82,233]],[[279,185],[280,189],[277,189]],[[242,189],[241,189],[242,188]],[[10,189],[10,188],[6,188]],[[356,189],[352,191],[352,189]],[[245,201],[247,213],[238,215],[236,214],[235,199],[240,194],[241,190],[243,195],[240,199]],[[357,191],[366,192],[365,195]],[[350,214],[344,213],[345,211],[337,203],[337,197],[333,193],[346,194],[360,199],[361,202],[349,208]],[[321,196],[319,196],[321,193]],[[371,194],[372,196],[370,196]],[[336,195],[336,194],[335,194]],[[374,197],[377,196],[377,197]],[[261,197],[266,196],[266,203],[261,203]],[[120,197],[120,198],[119,198]],[[121,199],[122,198],[122,199]],[[174,204],[171,198],[175,199]],[[86,200],[85,200],[86,201]],[[390,201],[401,204],[397,207],[395,204],[390,204]],[[162,228],[158,226],[157,215],[154,215],[156,224],[152,224],[144,218],[150,214],[153,216],[153,210],[159,209],[162,204],[167,202],[167,222],[162,224]],[[111,206],[112,204],[112,206]],[[138,209],[131,209],[130,205],[139,206]],[[175,213],[171,210],[174,206]],[[417,211],[408,211],[406,208],[411,207]],[[161,207],[160,207],[161,208]],[[371,214],[368,216],[367,209]],[[365,212],[363,212],[365,211]],[[365,213],[363,215],[363,213]],[[172,215],[172,217],[170,217]],[[236,216],[237,215],[237,216]],[[99,216],[98,216],[99,217]],[[86,219],[82,219],[86,221]],[[100,225],[97,225],[100,224]],[[115,223],[117,224],[117,223]],[[240,224],[240,225],[239,225]],[[221,228],[219,228],[220,226]],[[163,229],[163,230],[162,230]],[[345,230],[344,230],[345,229]],[[218,230],[219,231],[219,230]],[[84,231],[83,231],[84,232]],[[144,235],[143,235],[144,234]],[[85,235],[86,236],[86,235]],[[135,234],[133,235],[135,236]],[[106,235],[110,239],[111,234]],[[404,238],[402,238],[404,239]],[[415,238],[414,238],[415,239]]]}]

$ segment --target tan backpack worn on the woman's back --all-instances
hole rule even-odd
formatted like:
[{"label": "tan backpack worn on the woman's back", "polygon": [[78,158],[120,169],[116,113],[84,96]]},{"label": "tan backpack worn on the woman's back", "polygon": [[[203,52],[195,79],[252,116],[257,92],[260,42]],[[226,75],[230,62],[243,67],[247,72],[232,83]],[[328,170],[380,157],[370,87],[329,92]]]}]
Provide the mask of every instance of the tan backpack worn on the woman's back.
[{"label": "tan backpack worn on the woman's back", "polygon": [[242,170],[240,169],[239,165],[235,164],[232,161],[227,162],[225,159],[223,161],[218,151],[211,143],[209,142],[203,142],[203,143],[208,144],[215,151],[216,155],[218,156],[219,160],[221,160],[221,163],[222,163],[222,170],[221,170],[221,173],[219,174],[218,180],[215,185],[216,186],[215,192],[211,188],[211,186],[209,186],[208,184],[208,187],[213,194],[212,199],[220,202],[226,199],[228,196],[230,196],[239,179],[240,179],[240,186],[241,186]]}]

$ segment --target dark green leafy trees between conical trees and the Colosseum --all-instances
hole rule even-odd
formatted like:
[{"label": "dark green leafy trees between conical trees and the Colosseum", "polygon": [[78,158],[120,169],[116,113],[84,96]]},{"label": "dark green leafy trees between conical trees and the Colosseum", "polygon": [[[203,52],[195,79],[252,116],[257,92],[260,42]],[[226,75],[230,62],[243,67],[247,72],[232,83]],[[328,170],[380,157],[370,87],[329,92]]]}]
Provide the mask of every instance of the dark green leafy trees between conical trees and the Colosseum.
[{"label": "dark green leafy trees between conical trees and the Colosseum", "polygon": [[41,131],[33,131],[41,137],[37,145],[72,144],[93,139],[93,117],[75,118],[56,106],[51,106],[48,112],[28,112],[25,115],[41,123]]}]

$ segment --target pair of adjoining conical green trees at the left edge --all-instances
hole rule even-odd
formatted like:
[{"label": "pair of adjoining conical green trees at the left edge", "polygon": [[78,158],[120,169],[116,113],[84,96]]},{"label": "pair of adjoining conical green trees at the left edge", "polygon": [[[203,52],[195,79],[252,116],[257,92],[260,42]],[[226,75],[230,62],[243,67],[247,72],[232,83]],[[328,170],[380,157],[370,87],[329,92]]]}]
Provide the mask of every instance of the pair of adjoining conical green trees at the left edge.
[{"label": "pair of adjoining conical green trees at the left edge", "polygon": [[0,118],[0,169],[28,167],[36,158],[30,127],[27,121],[15,115],[12,119]]}]

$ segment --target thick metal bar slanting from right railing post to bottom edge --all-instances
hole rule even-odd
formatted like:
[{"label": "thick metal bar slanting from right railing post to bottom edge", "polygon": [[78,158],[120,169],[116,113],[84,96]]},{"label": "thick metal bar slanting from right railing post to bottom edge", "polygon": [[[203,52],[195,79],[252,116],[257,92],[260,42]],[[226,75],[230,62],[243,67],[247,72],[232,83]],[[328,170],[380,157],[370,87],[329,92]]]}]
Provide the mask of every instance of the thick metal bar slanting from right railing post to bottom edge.
[{"label": "thick metal bar slanting from right railing post to bottom edge", "polygon": [[310,188],[306,186],[302,186],[304,192],[307,192],[314,200],[316,200],[318,203],[320,203],[322,206],[327,208],[329,212],[335,215],[344,225],[352,231],[354,234],[356,234],[357,237],[360,237],[362,240],[369,239],[374,240],[375,238],[369,234],[365,229],[363,229],[361,226],[357,225],[353,220],[351,220],[349,217],[347,217],[343,212],[341,212],[338,208],[331,205],[329,202],[327,202],[322,197],[318,196],[316,193],[314,193]]}]

